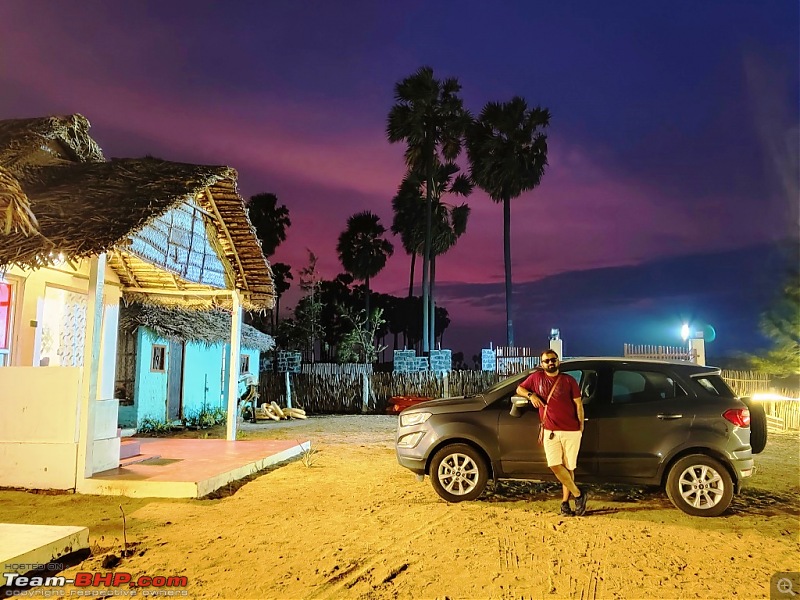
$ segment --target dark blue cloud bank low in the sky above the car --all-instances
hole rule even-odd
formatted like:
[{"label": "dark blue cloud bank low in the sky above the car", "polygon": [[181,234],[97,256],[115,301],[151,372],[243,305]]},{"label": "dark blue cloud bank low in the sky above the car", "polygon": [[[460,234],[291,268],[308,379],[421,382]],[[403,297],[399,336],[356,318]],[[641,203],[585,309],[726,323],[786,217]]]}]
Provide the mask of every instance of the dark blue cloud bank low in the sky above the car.
[{"label": "dark blue cloud bank low in the sky above the car", "polygon": [[[515,344],[546,345],[561,329],[571,355],[619,356],[625,343],[679,345],[680,325],[710,324],[711,356],[763,346],[760,314],[791,268],[800,264],[797,240],[639,265],[561,273],[514,285]],[[457,311],[447,336],[470,354],[505,344],[502,284],[442,284],[437,299]]]}]

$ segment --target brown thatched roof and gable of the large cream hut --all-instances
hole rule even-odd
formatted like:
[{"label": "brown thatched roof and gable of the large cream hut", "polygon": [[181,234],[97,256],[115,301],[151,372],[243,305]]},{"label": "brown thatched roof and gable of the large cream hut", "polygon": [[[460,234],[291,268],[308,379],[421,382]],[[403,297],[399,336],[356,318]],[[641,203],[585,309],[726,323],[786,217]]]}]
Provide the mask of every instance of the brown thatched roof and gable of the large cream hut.
[{"label": "brown thatched roof and gable of the large cream hut", "polygon": [[[105,162],[88,126],[80,115],[0,121],[0,224],[5,225],[0,228],[0,268],[39,268],[59,255],[73,261],[108,252],[109,264],[133,299],[209,307],[230,304],[230,298],[150,293],[235,288],[246,308],[272,308],[272,273],[234,169],[151,157]],[[188,265],[168,256],[178,254],[171,239],[162,240],[160,259],[137,255],[136,237],[187,204],[224,259],[225,273],[204,278],[200,265],[193,276]],[[192,232],[174,233],[177,238],[189,235],[191,251]],[[189,261],[191,252],[183,254],[181,259]]]}]

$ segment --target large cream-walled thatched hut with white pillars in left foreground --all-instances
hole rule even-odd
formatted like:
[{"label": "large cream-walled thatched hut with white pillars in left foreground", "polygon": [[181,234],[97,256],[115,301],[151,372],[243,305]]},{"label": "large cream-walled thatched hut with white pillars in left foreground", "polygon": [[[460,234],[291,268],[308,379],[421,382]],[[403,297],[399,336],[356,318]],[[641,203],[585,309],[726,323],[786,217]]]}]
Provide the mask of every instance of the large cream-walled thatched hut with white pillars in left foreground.
[{"label": "large cream-walled thatched hut with white pillars in left foreground", "polygon": [[[10,366],[0,389],[4,418],[31,422],[0,430],[0,454],[22,478],[0,485],[79,487],[118,463],[120,302],[227,310],[229,365],[239,309],[274,302],[234,169],[107,161],[88,131],[81,115],[0,121],[0,367]],[[226,369],[230,416],[237,374]]]}]

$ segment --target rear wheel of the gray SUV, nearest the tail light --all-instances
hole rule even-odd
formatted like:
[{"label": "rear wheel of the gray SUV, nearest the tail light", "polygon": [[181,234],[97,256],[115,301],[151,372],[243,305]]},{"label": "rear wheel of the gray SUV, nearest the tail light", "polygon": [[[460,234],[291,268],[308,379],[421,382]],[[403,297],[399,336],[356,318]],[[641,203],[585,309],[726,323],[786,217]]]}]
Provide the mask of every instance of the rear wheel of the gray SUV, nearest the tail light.
[{"label": "rear wheel of the gray SUV, nearest the tail light", "polygon": [[688,515],[717,517],[733,499],[733,479],[718,460],[705,454],[690,454],[669,470],[667,496]]}]

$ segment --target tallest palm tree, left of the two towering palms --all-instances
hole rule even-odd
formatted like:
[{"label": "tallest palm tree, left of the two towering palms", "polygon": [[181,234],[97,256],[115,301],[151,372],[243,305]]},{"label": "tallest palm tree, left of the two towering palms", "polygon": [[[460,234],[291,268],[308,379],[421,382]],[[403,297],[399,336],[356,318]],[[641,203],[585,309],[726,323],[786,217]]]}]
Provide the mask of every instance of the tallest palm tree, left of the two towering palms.
[{"label": "tallest palm tree, left of the two towering palms", "polygon": [[409,170],[423,176],[426,188],[425,243],[422,257],[422,349],[428,352],[429,262],[433,177],[436,166],[452,162],[461,153],[464,133],[471,122],[458,96],[461,84],[455,78],[439,81],[433,69],[422,67],[395,85],[395,105],[389,111],[386,135],[391,143],[405,141]]}]

